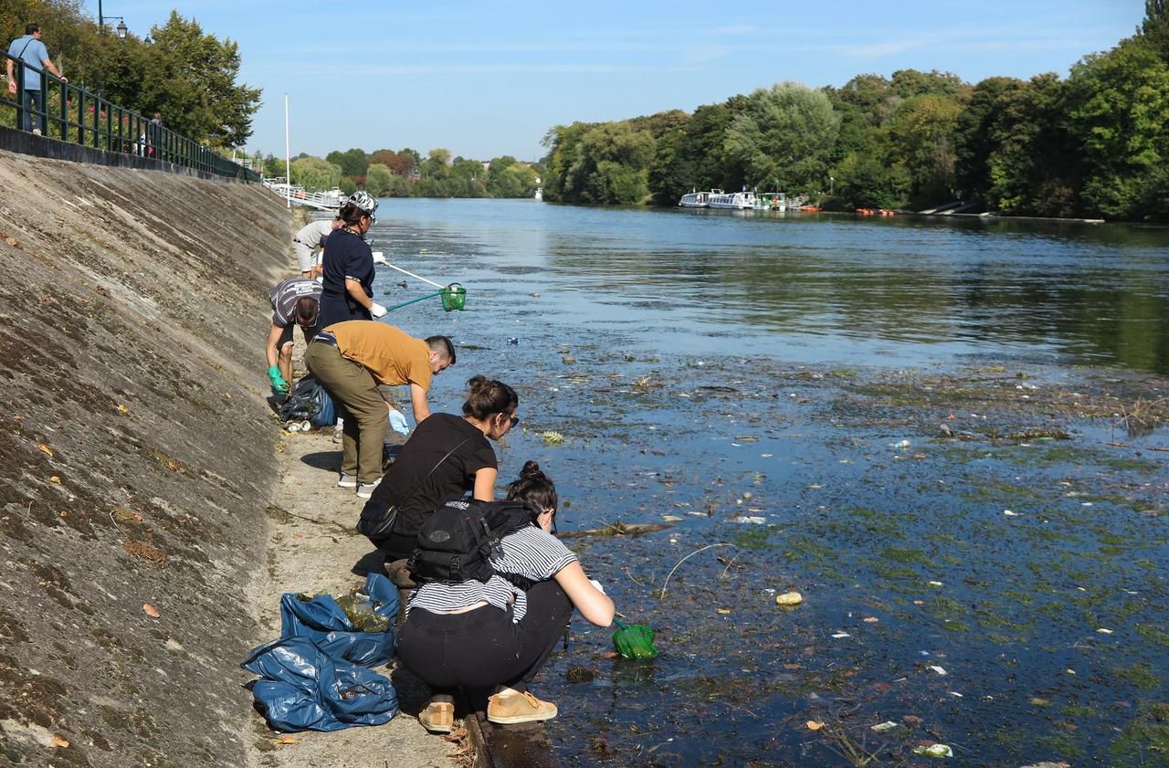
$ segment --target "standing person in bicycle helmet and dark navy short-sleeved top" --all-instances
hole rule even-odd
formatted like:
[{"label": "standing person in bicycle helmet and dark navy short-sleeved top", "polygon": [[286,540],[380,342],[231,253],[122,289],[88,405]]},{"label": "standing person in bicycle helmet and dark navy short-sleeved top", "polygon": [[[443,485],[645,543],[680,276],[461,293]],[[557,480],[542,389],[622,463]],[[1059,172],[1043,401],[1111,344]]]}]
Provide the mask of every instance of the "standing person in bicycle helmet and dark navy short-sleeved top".
[{"label": "standing person in bicycle helmet and dark navy short-sleeved top", "polygon": [[373,300],[373,251],[365,235],[374,222],[378,201],[365,191],[341,205],[341,227],[328,236],[320,291],[320,326],[345,320],[372,320],[386,314]]}]

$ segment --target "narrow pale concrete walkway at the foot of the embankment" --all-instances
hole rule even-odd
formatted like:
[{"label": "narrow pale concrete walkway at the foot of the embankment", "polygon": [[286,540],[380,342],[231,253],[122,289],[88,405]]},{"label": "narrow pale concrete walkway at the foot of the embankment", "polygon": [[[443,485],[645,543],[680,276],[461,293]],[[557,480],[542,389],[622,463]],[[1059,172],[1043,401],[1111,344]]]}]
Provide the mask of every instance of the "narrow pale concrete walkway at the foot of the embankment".
[{"label": "narrow pale concrete walkway at the foot of the embankment", "polygon": [[[299,346],[299,335],[297,337]],[[299,359],[299,355],[297,355]],[[295,433],[281,441],[279,485],[268,510],[270,537],[265,576],[250,590],[253,609],[267,637],[279,635],[279,599],[285,591],[333,595],[365,582],[368,568],[380,567],[369,541],[354,523],[361,501],[352,490],[337,487],[340,445],[332,429]],[[385,669],[376,670],[387,673]],[[245,673],[244,673],[245,674]],[[456,753],[462,745],[428,734],[416,715],[427,692],[401,670],[392,674],[401,713],[380,727],[333,733],[305,732],[281,739],[255,714],[249,735],[250,768],[451,768],[466,764]]]}]

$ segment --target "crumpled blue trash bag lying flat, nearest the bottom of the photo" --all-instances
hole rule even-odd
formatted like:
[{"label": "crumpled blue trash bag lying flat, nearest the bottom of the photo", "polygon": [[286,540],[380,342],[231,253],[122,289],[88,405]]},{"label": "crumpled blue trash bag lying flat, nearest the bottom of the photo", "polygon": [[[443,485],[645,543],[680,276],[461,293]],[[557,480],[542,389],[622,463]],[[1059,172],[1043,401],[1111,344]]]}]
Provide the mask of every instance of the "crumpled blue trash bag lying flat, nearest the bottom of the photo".
[{"label": "crumpled blue trash bag lying flat, nearest the bottom of the photo", "polygon": [[333,660],[307,637],[261,645],[243,669],[262,678],[251,693],[274,731],[385,725],[397,714],[397,693],[386,677]]}]

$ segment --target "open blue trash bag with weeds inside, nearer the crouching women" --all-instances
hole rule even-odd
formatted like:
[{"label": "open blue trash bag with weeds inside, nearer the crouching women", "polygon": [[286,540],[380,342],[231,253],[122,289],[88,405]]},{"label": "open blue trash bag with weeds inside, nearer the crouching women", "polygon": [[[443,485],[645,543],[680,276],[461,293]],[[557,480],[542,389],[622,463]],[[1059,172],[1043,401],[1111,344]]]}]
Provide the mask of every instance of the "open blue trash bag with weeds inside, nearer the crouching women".
[{"label": "open blue trash bag with weeds inside, nearer the crouching women", "polygon": [[327,656],[361,666],[388,663],[394,656],[397,587],[385,574],[372,573],[361,593],[368,595],[373,614],[386,621],[386,631],[354,627],[331,595],[300,600],[285,593],[281,597],[281,637],[307,637]]}]

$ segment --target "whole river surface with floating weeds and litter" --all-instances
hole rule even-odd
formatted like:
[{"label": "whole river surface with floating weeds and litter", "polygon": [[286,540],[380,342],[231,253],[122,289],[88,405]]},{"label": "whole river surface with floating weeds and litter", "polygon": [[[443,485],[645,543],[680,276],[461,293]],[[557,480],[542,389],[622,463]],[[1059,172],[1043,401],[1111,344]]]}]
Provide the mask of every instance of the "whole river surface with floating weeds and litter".
[{"label": "whole river surface with floating weeds and litter", "polygon": [[379,214],[375,250],[468,289],[387,318],[458,345],[431,406],[512,383],[502,480],[539,461],[566,533],[669,526],[568,540],[662,655],[574,621],[533,685],[565,764],[1165,764],[1169,230]]}]

